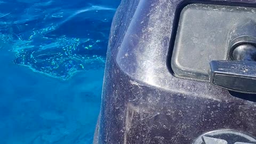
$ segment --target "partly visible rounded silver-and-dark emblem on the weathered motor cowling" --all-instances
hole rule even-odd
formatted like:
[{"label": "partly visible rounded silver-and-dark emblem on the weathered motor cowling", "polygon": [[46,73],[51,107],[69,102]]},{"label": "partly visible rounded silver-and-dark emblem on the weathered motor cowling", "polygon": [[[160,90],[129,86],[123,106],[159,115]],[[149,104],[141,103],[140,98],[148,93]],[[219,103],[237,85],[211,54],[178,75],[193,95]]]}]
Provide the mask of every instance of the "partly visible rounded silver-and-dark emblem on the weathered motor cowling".
[{"label": "partly visible rounded silver-and-dark emblem on the weathered motor cowling", "polygon": [[193,144],[256,144],[256,139],[234,130],[217,130],[201,135]]}]

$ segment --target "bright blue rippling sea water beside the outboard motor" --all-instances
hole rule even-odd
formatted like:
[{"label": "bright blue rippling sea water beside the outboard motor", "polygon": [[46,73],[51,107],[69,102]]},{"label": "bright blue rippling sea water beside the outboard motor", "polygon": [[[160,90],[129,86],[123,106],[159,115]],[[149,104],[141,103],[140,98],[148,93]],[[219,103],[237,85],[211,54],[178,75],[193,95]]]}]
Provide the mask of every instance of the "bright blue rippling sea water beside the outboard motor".
[{"label": "bright blue rippling sea water beside the outboard motor", "polygon": [[119,0],[0,1],[0,143],[92,143]]}]

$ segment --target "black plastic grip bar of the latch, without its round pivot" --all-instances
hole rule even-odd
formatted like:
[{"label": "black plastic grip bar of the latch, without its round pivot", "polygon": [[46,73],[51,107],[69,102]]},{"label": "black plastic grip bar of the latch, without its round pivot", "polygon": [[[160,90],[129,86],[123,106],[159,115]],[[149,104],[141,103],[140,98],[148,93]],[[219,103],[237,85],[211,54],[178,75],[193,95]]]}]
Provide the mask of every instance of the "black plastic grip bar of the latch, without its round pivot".
[{"label": "black plastic grip bar of the latch, without its round pivot", "polygon": [[210,82],[231,91],[256,94],[255,61],[211,61]]}]

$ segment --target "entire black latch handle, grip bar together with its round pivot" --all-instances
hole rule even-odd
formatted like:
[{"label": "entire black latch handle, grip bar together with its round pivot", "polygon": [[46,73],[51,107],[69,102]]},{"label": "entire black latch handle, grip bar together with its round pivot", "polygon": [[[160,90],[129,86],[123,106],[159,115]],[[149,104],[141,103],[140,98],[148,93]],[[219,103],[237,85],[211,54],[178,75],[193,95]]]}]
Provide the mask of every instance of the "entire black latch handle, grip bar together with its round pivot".
[{"label": "entire black latch handle, grip bar together with its round pivot", "polygon": [[256,47],[241,44],[231,54],[233,60],[210,62],[210,82],[231,91],[256,94]]}]

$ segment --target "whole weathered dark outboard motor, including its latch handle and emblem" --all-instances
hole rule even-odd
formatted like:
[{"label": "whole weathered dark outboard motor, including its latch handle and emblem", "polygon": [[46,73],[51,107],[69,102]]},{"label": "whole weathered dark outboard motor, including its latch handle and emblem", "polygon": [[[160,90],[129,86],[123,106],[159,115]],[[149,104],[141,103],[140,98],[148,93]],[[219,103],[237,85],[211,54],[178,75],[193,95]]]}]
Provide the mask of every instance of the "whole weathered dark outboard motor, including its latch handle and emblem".
[{"label": "whole weathered dark outboard motor, including its latch handle and emblem", "polygon": [[123,0],[94,143],[256,143],[256,1]]}]

